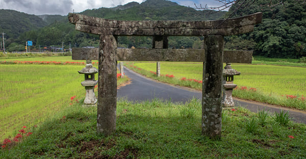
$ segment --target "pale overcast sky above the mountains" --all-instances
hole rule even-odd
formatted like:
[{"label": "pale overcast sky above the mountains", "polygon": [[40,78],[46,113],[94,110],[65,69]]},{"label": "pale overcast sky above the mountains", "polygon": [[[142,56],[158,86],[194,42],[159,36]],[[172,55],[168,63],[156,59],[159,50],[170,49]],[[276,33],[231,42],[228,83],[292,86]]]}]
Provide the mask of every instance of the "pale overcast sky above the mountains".
[{"label": "pale overcast sky above the mountains", "polygon": [[[118,5],[125,5],[130,2],[142,3],[145,0],[0,0],[0,9],[12,9],[28,14],[60,14],[67,15],[69,12],[82,12],[93,8],[111,8]],[[194,8],[208,5],[209,7],[218,6],[214,0],[171,0],[182,6]]]}]

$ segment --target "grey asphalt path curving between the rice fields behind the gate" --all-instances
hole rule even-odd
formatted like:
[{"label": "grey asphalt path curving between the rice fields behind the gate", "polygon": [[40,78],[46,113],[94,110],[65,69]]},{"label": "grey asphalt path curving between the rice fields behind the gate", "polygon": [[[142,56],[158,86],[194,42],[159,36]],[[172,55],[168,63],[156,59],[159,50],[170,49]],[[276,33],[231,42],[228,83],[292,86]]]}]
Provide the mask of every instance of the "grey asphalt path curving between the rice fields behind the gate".
[{"label": "grey asphalt path curving between the rice fields behind the gate", "polygon": [[[147,101],[155,98],[171,102],[187,102],[192,98],[201,99],[202,92],[192,90],[185,87],[172,86],[164,84],[124,67],[124,73],[131,78],[131,84],[120,87],[117,90],[118,98],[125,98],[129,101]],[[270,105],[266,103],[242,100],[234,98],[235,107],[244,107],[252,112],[258,112],[263,109],[271,114],[280,112],[281,110],[288,111],[292,120],[306,124],[306,112]]]}]

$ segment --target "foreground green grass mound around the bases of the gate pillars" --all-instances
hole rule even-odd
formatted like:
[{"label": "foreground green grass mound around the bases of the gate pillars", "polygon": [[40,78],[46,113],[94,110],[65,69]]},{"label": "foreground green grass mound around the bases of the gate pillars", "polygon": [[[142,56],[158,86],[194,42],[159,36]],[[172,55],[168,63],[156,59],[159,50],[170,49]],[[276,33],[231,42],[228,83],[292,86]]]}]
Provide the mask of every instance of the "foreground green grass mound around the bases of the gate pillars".
[{"label": "foreground green grass mound around the bases of the gate pillars", "polygon": [[201,102],[117,103],[116,131],[96,134],[96,108],[79,103],[33,134],[0,148],[0,158],[303,158],[306,126],[238,108],[222,113],[221,140],[201,135]]}]

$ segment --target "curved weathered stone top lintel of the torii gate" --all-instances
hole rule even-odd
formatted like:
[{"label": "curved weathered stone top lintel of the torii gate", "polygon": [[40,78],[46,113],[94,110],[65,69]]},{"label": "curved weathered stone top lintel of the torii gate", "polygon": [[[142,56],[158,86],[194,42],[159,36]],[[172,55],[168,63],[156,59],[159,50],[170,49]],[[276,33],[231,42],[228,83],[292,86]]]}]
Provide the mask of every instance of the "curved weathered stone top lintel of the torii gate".
[{"label": "curved weathered stone top lintel of the torii gate", "polygon": [[97,35],[118,36],[228,36],[252,32],[254,24],[262,21],[261,12],[225,21],[125,21],[75,13],[69,13],[68,17],[69,22],[75,24],[75,30]]}]

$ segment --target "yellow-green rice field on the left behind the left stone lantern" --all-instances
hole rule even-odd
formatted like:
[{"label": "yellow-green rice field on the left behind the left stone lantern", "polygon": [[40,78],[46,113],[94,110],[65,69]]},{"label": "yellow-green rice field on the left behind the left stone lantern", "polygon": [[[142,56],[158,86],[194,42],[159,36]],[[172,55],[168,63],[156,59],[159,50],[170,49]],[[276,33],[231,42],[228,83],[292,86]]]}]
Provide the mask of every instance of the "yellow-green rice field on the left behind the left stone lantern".
[{"label": "yellow-green rice field on the left behind the left stone lantern", "polygon": [[[59,59],[67,60],[52,57],[44,61]],[[83,102],[84,75],[78,73],[83,67],[85,65],[0,64],[0,140],[14,136],[16,129],[23,125],[34,126],[69,107],[72,96],[76,96],[74,102]],[[97,80],[97,75],[95,77]],[[118,85],[126,80],[119,80]]]}]

